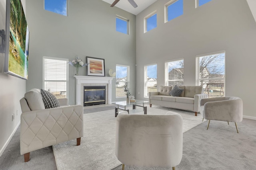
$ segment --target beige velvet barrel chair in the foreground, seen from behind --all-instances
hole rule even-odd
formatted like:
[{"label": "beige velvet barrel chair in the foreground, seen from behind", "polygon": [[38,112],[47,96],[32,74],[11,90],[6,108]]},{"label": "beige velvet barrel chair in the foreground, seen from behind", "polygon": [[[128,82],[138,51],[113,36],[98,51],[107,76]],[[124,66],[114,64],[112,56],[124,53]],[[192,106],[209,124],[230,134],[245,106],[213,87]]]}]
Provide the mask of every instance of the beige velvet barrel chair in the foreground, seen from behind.
[{"label": "beige velvet barrel chair in the foreground, seen from behind", "polygon": [[136,115],[122,111],[116,119],[116,156],[124,165],[175,170],[182,159],[181,115]]}]

